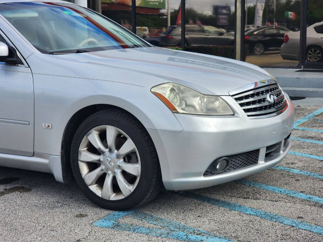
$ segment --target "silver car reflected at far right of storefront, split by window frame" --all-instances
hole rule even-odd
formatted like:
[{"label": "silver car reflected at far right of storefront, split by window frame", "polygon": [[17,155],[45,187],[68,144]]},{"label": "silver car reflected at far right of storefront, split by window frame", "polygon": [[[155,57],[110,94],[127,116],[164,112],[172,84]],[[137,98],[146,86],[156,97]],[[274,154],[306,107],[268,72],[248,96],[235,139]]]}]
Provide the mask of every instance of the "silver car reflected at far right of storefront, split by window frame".
[{"label": "silver car reflected at far right of storefront, split by window frame", "polygon": [[[307,27],[306,61],[323,62],[323,22]],[[300,31],[285,34],[284,44],[281,47],[283,59],[299,61]]]}]

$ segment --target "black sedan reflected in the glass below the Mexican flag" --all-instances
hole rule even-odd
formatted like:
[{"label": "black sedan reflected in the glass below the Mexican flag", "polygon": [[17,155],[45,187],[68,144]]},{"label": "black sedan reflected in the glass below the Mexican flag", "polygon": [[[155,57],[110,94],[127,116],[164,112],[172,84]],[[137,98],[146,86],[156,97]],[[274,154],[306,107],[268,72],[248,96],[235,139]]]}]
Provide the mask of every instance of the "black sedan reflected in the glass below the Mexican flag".
[{"label": "black sedan reflected in the glass below the Mexican flag", "polygon": [[262,54],[266,50],[279,50],[284,43],[284,34],[291,30],[283,26],[263,26],[245,33],[245,44],[249,52]]}]

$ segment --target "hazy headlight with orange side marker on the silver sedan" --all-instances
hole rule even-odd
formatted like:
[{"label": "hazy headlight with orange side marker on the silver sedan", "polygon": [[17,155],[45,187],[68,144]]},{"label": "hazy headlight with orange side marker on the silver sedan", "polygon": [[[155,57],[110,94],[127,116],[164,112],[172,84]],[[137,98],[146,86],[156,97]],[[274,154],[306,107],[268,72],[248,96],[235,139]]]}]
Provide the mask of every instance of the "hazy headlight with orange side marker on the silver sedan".
[{"label": "hazy headlight with orange side marker on the silver sedan", "polygon": [[221,97],[204,95],[179,84],[164,83],[151,88],[150,91],[176,113],[234,115]]}]

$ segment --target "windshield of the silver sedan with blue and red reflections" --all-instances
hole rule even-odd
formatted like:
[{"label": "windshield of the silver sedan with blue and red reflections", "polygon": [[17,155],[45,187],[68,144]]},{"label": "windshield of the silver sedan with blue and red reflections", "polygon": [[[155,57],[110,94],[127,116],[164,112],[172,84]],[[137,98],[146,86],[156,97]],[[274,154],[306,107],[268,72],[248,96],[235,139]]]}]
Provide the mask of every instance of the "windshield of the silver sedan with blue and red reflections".
[{"label": "windshield of the silver sedan with blue and red reflections", "polygon": [[130,31],[77,5],[37,2],[0,6],[0,15],[42,53],[150,47]]}]

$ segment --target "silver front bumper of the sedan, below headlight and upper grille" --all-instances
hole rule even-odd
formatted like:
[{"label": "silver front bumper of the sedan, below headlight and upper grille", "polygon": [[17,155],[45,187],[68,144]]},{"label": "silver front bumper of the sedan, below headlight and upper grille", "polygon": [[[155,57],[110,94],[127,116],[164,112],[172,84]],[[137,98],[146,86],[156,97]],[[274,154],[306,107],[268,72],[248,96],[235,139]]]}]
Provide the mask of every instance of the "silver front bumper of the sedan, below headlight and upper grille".
[{"label": "silver front bumper of the sedan, below headlight and upper grille", "polygon": [[[175,114],[181,132],[149,130],[155,144],[167,190],[191,190],[239,179],[279,163],[288,153],[291,142],[284,140],[293,129],[294,107],[280,115],[250,119],[230,96],[222,97],[233,109],[233,116]],[[266,147],[280,146],[265,157]],[[259,149],[258,163],[230,172],[203,175],[217,158]]]}]

